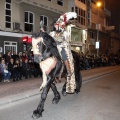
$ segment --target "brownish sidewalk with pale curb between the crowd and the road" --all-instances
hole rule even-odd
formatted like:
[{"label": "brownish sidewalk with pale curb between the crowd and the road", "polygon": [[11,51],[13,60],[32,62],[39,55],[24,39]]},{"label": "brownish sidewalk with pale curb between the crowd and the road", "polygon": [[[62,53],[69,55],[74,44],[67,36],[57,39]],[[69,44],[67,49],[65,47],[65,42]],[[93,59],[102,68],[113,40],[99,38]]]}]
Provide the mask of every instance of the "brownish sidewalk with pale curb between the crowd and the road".
[{"label": "brownish sidewalk with pale curb between the crowd and the road", "polygon": [[[119,71],[120,66],[100,67],[90,70],[82,70],[82,81],[83,83],[98,77],[102,77],[107,74]],[[61,83],[56,83],[57,87],[59,84],[62,86],[65,82],[62,78]],[[11,104],[26,98],[30,98],[36,95],[40,95],[39,87],[42,83],[42,78],[30,78],[23,79],[17,82],[11,80],[10,83],[0,83],[0,107]]]}]

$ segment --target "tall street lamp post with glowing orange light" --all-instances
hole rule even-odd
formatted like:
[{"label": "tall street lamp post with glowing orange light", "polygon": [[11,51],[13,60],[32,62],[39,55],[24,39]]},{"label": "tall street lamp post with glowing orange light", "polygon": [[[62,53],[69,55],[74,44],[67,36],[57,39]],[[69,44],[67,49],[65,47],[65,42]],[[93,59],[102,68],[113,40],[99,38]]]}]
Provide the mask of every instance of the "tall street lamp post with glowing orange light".
[{"label": "tall street lamp post with glowing orange light", "polygon": [[[101,7],[101,5],[102,5],[101,2],[96,3],[97,9],[98,9],[98,19],[99,19],[99,8]],[[96,26],[96,29],[97,29],[97,41],[96,41],[97,56],[99,55],[99,28],[100,28],[100,23],[98,21],[98,24]]]}]

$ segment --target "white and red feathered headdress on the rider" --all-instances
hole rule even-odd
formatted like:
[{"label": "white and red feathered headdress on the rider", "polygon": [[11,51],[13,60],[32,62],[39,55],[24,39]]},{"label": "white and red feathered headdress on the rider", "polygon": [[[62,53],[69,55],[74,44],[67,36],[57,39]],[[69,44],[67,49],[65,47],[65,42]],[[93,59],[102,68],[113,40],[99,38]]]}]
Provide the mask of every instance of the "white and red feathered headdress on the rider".
[{"label": "white and red feathered headdress on the rider", "polygon": [[77,13],[75,12],[66,12],[58,18],[55,25],[59,26],[59,30],[64,30],[65,26],[68,24],[69,20],[72,18],[77,18]]}]

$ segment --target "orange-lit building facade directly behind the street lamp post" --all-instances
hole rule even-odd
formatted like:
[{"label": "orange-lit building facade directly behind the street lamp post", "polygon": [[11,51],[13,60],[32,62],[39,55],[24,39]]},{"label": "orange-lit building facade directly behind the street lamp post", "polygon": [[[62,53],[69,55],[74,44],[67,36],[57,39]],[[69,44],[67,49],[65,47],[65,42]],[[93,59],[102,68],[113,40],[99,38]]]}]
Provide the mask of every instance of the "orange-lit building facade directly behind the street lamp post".
[{"label": "orange-lit building facade directly behind the street lamp post", "polygon": [[[106,27],[110,25],[111,13],[105,8],[105,2],[97,6],[97,0],[88,1],[88,41],[87,46],[90,53],[104,53],[103,45],[110,48]],[[106,42],[104,42],[106,41]],[[98,43],[98,48],[97,47]]]}]

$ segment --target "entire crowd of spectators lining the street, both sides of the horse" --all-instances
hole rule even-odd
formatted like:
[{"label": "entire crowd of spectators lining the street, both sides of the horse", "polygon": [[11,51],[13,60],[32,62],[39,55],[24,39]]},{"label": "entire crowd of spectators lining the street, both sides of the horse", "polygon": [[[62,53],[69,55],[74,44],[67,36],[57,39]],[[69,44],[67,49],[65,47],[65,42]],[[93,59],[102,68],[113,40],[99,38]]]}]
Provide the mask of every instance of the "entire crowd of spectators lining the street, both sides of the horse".
[{"label": "entire crowd of spectators lining the street, both sides of the horse", "polygon": [[[80,70],[89,70],[97,67],[120,65],[120,53],[96,56],[93,54],[78,54],[80,61]],[[42,76],[39,64],[34,62],[32,53],[20,52],[16,54],[7,51],[6,54],[0,54],[0,81],[10,82],[18,81],[23,78]]]}]

